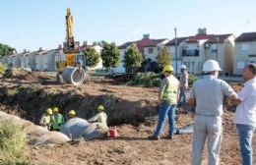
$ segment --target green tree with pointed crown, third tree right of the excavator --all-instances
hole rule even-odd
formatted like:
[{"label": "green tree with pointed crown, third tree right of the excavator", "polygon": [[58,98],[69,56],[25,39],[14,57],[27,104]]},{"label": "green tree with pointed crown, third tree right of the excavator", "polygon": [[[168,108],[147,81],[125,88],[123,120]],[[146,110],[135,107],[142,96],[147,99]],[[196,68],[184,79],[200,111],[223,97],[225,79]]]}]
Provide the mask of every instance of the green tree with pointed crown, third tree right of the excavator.
[{"label": "green tree with pointed crown, third tree right of the excavator", "polygon": [[133,73],[133,67],[142,66],[142,62],[143,62],[142,54],[135,43],[131,44],[131,46],[125,51],[123,62],[126,68],[132,67],[132,73]]}]

